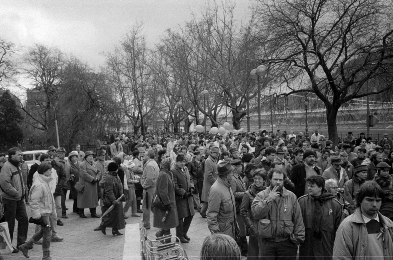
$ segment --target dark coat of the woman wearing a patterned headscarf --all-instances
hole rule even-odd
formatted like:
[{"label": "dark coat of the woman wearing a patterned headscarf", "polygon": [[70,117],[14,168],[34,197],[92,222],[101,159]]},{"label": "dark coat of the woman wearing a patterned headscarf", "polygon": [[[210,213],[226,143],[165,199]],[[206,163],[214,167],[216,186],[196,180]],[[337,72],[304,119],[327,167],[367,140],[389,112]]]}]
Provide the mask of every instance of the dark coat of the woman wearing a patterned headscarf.
[{"label": "dark coat of the woman wearing a patterned headscarf", "polygon": [[156,194],[164,205],[171,204],[171,210],[169,211],[165,221],[162,222],[165,210],[154,207],[153,227],[163,229],[177,227],[179,225],[179,217],[177,215],[173,180],[171,178],[171,173],[167,169],[160,169],[160,173],[157,177]]}]

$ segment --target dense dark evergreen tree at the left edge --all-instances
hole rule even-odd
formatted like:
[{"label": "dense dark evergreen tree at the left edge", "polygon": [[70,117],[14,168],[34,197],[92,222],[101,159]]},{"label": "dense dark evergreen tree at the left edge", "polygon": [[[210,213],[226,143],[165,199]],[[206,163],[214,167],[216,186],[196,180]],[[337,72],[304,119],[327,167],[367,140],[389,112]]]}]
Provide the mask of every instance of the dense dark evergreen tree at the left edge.
[{"label": "dense dark evergreen tree at the left edge", "polygon": [[20,123],[23,117],[17,110],[15,100],[9,91],[0,95],[0,147],[16,146],[23,139]]}]

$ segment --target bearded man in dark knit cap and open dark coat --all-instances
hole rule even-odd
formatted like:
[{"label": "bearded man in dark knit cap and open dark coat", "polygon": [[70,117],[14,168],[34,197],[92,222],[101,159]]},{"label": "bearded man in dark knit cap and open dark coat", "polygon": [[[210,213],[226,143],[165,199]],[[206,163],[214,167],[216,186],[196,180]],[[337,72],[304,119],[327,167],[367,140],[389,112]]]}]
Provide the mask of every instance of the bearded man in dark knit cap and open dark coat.
[{"label": "bearded man in dark knit cap and open dark coat", "polygon": [[314,151],[305,151],[303,153],[303,161],[303,163],[297,164],[292,167],[290,174],[290,180],[295,184],[295,195],[298,198],[305,194],[308,194],[305,178],[308,178],[312,175],[322,175],[321,168],[314,165]]}]

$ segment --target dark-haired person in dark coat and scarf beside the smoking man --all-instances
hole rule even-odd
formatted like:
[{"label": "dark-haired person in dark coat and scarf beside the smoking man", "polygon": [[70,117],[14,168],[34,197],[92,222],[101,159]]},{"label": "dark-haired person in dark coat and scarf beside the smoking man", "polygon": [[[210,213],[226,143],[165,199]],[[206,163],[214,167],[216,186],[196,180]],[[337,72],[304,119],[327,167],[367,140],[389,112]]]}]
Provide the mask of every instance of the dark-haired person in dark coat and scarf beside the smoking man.
[{"label": "dark-haired person in dark coat and scarf beside the smoking man", "polygon": [[298,199],[306,230],[299,259],[332,258],[334,237],[343,220],[342,205],[332,193],[325,193],[322,176],[310,176],[306,182],[309,194]]}]

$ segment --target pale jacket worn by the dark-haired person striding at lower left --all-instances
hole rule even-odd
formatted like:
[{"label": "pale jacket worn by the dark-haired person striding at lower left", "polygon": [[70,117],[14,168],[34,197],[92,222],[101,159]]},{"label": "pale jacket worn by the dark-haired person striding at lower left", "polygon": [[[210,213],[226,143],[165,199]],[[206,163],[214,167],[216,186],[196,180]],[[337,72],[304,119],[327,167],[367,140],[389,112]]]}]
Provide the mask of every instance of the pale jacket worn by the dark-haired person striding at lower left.
[{"label": "pale jacket worn by the dark-haired person striding at lower left", "polygon": [[49,185],[53,180],[51,177],[39,174],[30,189],[30,209],[31,216],[39,219],[41,216],[48,216],[55,211],[55,199]]}]

